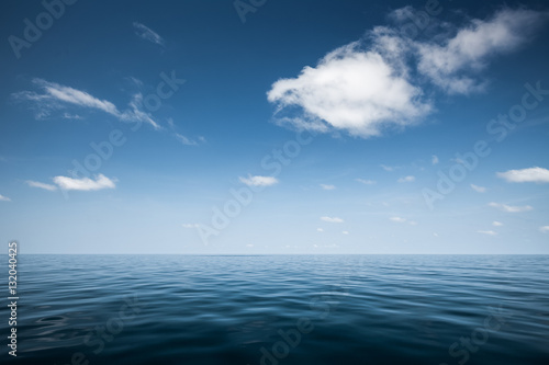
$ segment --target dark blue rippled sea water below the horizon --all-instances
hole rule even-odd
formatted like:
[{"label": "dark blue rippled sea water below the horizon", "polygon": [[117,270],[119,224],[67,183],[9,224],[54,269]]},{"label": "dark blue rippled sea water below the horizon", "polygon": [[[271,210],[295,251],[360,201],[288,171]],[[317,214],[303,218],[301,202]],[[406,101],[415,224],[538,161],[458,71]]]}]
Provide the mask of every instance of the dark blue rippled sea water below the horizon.
[{"label": "dark blue rippled sea water below the horizon", "polygon": [[2,364],[549,364],[547,255],[19,260]]}]

